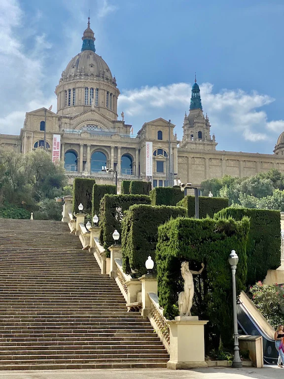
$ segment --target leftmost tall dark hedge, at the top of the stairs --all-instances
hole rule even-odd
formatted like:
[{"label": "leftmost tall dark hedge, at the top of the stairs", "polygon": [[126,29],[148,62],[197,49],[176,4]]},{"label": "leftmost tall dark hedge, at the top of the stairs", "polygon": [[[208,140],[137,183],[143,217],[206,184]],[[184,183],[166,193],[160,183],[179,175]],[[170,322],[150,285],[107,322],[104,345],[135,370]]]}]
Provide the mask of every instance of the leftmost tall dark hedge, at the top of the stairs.
[{"label": "leftmost tall dark hedge, at the top of the stairs", "polygon": [[83,212],[92,213],[92,195],[95,179],[75,178],[73,182],[73,212],[77,213],[78,205],[83,204]]}]

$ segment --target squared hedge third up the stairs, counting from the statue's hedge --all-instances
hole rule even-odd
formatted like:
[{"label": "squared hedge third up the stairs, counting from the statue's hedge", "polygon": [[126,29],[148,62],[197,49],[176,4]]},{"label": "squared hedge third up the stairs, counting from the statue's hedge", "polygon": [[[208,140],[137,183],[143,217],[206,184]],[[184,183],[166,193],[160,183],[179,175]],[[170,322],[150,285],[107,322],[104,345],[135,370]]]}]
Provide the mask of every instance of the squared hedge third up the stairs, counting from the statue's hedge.
[{"label": "squared hedge third up the stairs, counting from the statue's hedge", "polygon": [[107,248],[113,244],[112,233],[115,229],[121,235],[121,221],[126,211],[134,204],[150,204],[146,195],[110,195],[106,194],[100,204],[100,243]]}]

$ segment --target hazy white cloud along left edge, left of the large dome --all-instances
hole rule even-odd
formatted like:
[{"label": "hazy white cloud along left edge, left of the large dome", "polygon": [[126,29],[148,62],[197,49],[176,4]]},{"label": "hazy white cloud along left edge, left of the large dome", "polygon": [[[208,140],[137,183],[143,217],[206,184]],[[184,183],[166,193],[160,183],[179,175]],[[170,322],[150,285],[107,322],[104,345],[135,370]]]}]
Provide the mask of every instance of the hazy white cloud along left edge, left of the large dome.
[{"label": "hazy white cloud along left edge, left of the large dome", "polygon": [[31,106],[36,104],[41,108],[46,102],[42,92],[43,63],[51,44],[44,35],[35,33],[26,49],[23,31],[28,25],[25,22],[25,14],[17,0],[1,0],[0,133],[3,134],[18,134]]}]

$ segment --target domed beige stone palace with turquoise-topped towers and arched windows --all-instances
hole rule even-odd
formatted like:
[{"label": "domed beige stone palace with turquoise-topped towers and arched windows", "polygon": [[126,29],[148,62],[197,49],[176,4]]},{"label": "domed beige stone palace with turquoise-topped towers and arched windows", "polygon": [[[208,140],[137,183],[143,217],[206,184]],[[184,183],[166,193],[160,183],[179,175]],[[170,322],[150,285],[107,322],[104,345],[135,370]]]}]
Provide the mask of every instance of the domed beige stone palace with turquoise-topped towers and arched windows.
[{"label": "domed beige stone palace with turquoise-topped towers and arched windows", "polygon": [[[181,141],[174,134],[175,125],[163,118],[145,122],[133,136],[124,114],[118,120],[120,92],[106,62],[95,53],[89,23],[82,39],[81,53],[71,59],[55,89],[57,113],[45,108],[28,112],[19,136],[0,134],[0,150],[25,154],[43,147],[45,135],[46,149],[51,152],[53,135],[59,134],[61,161],[70,184],[76,176],[95,178],[98,184],[149,179],[145,173],[146,142],[153,144],[154,186],[171,185],[174,178],[198,186],[205,179],[226,174],[246,177],[271,168],[284,173],[284,133],[275,154],[216,150],[196,81]],[[102,171],[102,166],[110,171]]]}]

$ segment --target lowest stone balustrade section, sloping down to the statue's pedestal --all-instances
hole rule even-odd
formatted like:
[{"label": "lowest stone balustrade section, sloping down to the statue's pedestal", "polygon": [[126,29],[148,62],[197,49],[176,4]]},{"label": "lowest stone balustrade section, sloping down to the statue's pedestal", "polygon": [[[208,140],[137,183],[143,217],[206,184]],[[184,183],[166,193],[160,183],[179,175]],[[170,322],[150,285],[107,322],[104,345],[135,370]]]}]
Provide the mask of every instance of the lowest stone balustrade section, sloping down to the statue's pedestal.
[{"label": "lowest stone balustrade section, sloping down to the statue's pedestal", "polygon": [[148,314],[148,319],[170,354],[170,328],[167,319],[164,317],[163,310],[159,306],[157,294],[154,292],[148,292],[148,296],[151,301],[151,310]]}]

